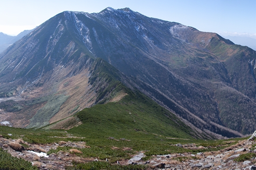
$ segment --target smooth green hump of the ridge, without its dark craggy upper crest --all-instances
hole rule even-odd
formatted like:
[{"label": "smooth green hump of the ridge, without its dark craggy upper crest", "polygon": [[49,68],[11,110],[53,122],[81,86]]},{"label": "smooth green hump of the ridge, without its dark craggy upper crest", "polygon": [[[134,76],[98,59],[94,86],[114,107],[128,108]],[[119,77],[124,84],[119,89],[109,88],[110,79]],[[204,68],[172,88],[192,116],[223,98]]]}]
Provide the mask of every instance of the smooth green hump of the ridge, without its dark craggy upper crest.
[{"label": "smooth green hump of the ridge, without its dark craggy upper crest", "polygon": [[133,99],[134,96],[135,94],[130,92],[119,102],[95,105],[79,112],[77,116],[83,122],[82,126],[91,130],[96,128],[102,131],[102,134],[119,134],[118,136],[122,137],[124,134],[139,131],[169,137],[192,138],[192,130],[171,112],[143,94],[136,99]]}]

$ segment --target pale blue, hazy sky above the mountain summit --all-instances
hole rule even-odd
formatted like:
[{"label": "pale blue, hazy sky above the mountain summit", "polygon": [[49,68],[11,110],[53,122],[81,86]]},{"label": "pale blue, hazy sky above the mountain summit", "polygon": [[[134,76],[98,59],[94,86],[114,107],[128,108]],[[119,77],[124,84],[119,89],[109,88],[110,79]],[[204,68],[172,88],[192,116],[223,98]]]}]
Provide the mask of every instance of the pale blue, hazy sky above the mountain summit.
[{"label": "pale blue, hazy sky above the mountain summit", "polygon": [[203,32],[256,39],[256,0],[0,0],[0,32],[17,35],[63,11],[129,7]]}]

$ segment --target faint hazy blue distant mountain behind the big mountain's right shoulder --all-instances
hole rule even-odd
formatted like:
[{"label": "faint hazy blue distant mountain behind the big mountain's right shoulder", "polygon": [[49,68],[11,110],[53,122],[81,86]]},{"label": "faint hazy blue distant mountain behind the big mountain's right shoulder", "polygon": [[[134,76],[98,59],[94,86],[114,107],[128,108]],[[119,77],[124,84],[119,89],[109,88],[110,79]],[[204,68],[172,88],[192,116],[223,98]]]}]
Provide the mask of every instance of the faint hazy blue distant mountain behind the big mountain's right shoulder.
[{"label": "faint hazy blue distant mountain behind the big mountain's right shoulder", "polygon": [[253,50],[256,50],[256,39],[245,37],[245,36],[223,36],[226,39],[231,40],[232,42],[242,45],[242,46],[248,46],[252,48]]}]

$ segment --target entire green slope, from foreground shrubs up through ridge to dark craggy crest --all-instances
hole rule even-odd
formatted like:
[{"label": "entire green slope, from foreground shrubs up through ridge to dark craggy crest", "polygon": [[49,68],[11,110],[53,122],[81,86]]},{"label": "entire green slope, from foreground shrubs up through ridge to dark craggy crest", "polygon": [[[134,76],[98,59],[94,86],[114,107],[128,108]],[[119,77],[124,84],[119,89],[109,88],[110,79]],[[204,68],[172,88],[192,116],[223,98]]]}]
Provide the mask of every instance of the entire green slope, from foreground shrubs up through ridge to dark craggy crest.
[{"label": "entire green slope, from foreground shrubs up through ridge to dark craggy crest", "polygon": [[[182,123],[177,116],[159,106],[137,90],[130,90],[120,83],[121,74],[101,59],[97,59],[90,83],[98,86],[97,99],[101,103],[83,109],[77,116],[82,125],[70,130],[43,130],[0,127],[0,134],[7,138],[23,138],[35,144],[47,144],[58,141],[85,141],[90,148],[80,149],[82,157],[93,157],[101,160],[109,159],[110,163],[117,160],[130,159],[132,154],[144,151],[147,157],[158,154],[203,152],[228,147],[222,141],[203,141],[193,137],[194,132]],[[93,70],[92,69],[92,70]],[[114,74],[112,74],[112,72]],[[106,83],[107,82],[107,83]],[[126,93],[120,101],[109,102],[119,93]],[[13,136],[8,136],[11,133]],[[60,138],[76,136],[78,138]],[[85,137],[85,138],[81,138]],[[168,138],[167,138],[168,137]],[[175,146],[181,143],[197,143],[213,146],[201,150],[188,150]],[[113,149],[113,146],[116,147]],[[217,146],[217,147],[216,147]],[[216,147],[216,148],[215,148]],[[123,150],[123,148],[130,148]],[[70,147],[59,147],[48,154],[62,150],[68,152]],[[97,165],[96,165],[97,164]],[[116,167],[109,163],[76,164],[77,169],[143,169],[143,166]],[[71,168],[71,167],[70,167]]]}]

